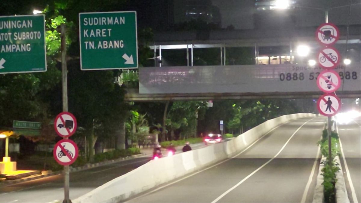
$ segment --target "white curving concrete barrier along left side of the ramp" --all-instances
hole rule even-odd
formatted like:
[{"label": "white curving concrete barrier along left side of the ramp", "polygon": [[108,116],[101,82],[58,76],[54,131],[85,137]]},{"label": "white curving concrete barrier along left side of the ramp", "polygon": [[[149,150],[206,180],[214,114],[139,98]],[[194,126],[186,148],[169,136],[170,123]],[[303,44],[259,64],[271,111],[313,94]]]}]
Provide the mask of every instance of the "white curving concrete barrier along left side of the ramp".
[{"label": "white curving concrete barrier along left side of the ramp", "polygon": [[265,121],[227,142],[221,142],[158,160],[151,160],[135,170],[74,199],[73,202],[121,202],[155,186],[170,182],[175,178],[232,157],[280,124],[297,118],[315,116],[315,114],[310,113],[280,116]]}]

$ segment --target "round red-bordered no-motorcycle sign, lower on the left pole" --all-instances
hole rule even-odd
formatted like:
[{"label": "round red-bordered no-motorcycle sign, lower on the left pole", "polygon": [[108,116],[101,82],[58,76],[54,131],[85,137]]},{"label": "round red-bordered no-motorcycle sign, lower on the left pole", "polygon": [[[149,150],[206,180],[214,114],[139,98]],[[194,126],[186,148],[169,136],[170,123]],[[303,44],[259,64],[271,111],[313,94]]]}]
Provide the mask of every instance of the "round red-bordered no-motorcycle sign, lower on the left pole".
[{"label": "round red-bordered no-motorcycle sign, lower on the left pole", "polygon": [[70,139],[62,139],[54,146],[53,156],[60,165],[67,166],[74,163],[79,155],[77,144]]}]

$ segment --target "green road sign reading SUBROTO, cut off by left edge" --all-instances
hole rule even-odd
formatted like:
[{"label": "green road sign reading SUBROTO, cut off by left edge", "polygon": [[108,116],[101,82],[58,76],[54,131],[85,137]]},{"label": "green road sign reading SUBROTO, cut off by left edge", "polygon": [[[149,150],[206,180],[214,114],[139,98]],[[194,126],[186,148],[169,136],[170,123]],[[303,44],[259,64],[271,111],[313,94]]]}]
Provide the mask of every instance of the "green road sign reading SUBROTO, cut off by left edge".
[{"label": "green road sign reading SUBROTO, cut off by left edge", "polygon": [[0,16],[0,74],[46,71],[45,16]]}]

